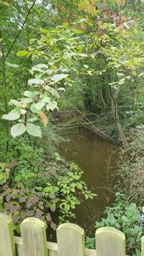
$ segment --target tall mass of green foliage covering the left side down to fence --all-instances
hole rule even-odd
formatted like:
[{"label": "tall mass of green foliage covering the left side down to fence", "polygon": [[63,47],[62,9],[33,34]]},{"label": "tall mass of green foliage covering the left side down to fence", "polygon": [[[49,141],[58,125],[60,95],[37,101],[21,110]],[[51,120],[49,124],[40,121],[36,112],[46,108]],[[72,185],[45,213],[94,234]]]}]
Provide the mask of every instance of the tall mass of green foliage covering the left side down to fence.
[{"label": "tall mass of green foliage covering the left side down to fence", "polygon": [[[82,200],[94,196],[78,166],[55,153],[59,136],[55,137],[47,113],[58,109],[60,94],[71,83],[71,63],[63,55],[75,36],[65,26],[49,25],[47,30],[43,18],[47,9],[48,19],[54,12],[48,3],[1,4],[1,111],[6,121],[1,122],[0,208],[12,216],[17,231],[28,216],[47,221],[55,230],[53,212],[58,212],[59,221],[66,221],[75,216],[73,209]],[[9,26],[12,39],[6,33]]]}]

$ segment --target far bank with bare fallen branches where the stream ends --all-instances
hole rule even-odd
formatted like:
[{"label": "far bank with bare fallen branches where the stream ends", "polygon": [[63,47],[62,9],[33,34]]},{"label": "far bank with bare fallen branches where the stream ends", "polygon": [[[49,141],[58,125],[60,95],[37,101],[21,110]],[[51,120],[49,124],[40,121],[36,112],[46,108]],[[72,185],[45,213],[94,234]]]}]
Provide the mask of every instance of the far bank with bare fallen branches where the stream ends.
[{"label": "far bank with bare fallen branches where the stream ends", "polygon": [[115,125],[113,125],[112,114],[96,114],[81,111],[64,110],[55,113],[55,128],[60,130],[71,130],[78,128],[80,131],[89,131],[97,137],[101,137],[116,146],[122,143],[118,140]]}]

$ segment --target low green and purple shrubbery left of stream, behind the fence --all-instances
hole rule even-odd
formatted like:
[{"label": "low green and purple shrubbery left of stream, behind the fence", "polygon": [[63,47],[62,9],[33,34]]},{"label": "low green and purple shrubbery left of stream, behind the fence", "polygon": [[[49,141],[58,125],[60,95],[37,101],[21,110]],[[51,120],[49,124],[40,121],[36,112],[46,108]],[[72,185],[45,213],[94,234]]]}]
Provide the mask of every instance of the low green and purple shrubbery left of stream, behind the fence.
[{"label": "low green and purple shrubbery left of stream, behind the fence", "polygon": [[73,210],[81,200],[93,198],[81,180],[83,172],[58,153],[47,156],[43,148],[21,141],[14,156],[17,159],[10,164],[0,164],[0,211],[13,218],[15,230],[20,231],[20,222],[31,216],[55,230],[53,212],[58,212],[60,222],[66,221],[75,217]]}]

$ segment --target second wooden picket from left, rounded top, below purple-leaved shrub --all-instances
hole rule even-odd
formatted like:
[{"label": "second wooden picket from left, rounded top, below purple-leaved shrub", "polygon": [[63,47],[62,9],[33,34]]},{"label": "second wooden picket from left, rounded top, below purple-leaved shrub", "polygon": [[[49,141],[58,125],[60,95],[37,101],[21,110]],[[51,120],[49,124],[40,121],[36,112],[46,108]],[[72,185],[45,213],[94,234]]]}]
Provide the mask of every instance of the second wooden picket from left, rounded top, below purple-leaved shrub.
[{"label": "second wooden picket from left, rounded top, below purple-leaved shrub", "polygon": [[20,225],[24,256],[48,256],[46,224],[38,218],[26,218]]}]

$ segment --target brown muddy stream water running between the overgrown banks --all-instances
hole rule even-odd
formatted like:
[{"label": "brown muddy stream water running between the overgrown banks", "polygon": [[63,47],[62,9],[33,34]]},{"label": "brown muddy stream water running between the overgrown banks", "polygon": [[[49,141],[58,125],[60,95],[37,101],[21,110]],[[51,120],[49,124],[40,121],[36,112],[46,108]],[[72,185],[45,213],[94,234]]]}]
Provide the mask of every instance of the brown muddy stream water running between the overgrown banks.
[{"label": "brown muddy stream water running between the overgrown banks", "polygon": [[65,137],[60,155],[81,168],[84,182],[97,195],[93,200],[83,201],[75,210],[76,218],[70,221],[84,228],[87,236],[94,235],[95,221],[114,200],[112,189],[117,180],[118,148],[88,131],[81,134],[69,131]]}]

